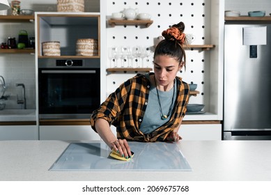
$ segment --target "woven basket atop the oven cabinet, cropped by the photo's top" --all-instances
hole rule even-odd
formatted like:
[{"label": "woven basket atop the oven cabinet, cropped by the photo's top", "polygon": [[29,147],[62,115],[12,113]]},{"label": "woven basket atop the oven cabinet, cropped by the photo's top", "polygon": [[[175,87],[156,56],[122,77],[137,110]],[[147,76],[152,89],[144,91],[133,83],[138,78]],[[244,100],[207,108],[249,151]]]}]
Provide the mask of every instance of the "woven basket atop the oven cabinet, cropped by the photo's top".
[{"label": "woven basket atop the oven cabinet, cropped by the photo's top", "polygon": [[58,12],[84,12],[84,0],[57,0]]}]

